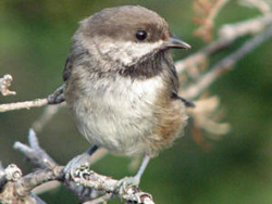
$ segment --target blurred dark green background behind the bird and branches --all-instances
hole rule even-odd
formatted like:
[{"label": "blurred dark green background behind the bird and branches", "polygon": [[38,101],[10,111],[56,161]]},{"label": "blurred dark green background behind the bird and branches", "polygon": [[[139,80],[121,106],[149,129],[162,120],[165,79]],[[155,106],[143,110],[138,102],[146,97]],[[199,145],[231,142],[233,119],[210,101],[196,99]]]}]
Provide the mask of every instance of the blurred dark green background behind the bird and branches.
[{"label": "blurred dark green background behind the bird and branches", "polygon": [[[193,46],[175,52],[185,58],[205,46],[193,31],[193,0],[0,0],[0,75],[14,78],[15,97],[0,103],[45,98],[62,84],[62,68],[71,37],[81,20],[103,8],[140,4],[157,11],[173,33]],[[217,26],[259,15],[257,10],[231,1],[217,18]],[[247,38],[237,41],[243,43]],[[234,44],[235,46],[235,44]],[[187,133],[175,145],[151,161],[140,187],[161,204],[272,203],[272,40],[238,62],[211,88],[221,98],[224,120],[232,131],[210,151],[197,145]],[[218,59],[215,55],[214,59]],[[27,174],[33,165],[12,149],[14,141],[27,142],[27,131],[44,107],[0,114],[0,161],[15,163]],[[40,144],[60,164],[89,148],[79,136],[66,109],[38,135]],[[133,175],[129,158],[108,155],[94,169],[114,178]],[[48,203],[78,203],[64,188],[41,195]],[[110,203],[119,203],[114,200]]]}]

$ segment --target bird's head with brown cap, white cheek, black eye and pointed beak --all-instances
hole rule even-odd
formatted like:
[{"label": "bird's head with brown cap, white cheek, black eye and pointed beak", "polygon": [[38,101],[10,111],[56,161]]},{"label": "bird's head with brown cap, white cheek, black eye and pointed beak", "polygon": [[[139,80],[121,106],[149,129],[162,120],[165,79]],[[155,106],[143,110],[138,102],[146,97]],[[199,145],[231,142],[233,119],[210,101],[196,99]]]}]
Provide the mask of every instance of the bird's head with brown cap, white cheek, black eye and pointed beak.
[{"label": "bird's head with brown cap, white cheek, black eye and pointed beak", "polygon": [[81,22],[87,47],[107,61],[133,66],[168,49],[189,49],[172,36],[168,23],[139,5],[104,9]]}]

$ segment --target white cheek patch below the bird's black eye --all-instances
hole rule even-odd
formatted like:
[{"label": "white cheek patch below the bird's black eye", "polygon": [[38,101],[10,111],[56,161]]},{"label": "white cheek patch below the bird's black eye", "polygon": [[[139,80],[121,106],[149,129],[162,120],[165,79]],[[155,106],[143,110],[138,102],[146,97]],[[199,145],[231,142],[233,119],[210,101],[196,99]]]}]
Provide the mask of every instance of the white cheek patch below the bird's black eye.
[{"label": "white cheek patch below the bird's black eye", "polygon": [[148,53],[152,53],[154,50],[162,46],[163,41],[157,42],[103,42],[99,46],[100,53],[108,55],[111,60],[121,62],[124,65],[132,65]]}]

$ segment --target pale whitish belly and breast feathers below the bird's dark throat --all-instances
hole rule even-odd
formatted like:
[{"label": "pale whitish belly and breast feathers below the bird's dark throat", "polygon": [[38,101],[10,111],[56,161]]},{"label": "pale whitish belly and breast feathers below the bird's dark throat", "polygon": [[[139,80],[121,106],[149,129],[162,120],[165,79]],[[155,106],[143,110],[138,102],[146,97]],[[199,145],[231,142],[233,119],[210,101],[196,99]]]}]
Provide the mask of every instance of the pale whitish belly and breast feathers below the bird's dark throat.
[{"label": "pale whitish belly and breast feathers below the bird's dark throat", "polygon": [[152,104],[161,87],[160,78],[119,81],[106,89],[92,86],[88,97],[73,101],[81,133],[115,153],[144,153],[148,148],[145,137],[152,133],[157,123]]}]

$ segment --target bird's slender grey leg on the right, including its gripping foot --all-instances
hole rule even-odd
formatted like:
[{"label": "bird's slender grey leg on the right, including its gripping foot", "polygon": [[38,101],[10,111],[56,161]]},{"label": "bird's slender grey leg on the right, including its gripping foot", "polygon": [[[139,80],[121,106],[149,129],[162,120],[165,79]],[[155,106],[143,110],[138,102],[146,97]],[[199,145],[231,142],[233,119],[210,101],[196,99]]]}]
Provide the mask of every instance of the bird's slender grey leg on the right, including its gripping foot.
[{"label": "bird's slender grey leg on the right, including its gripping foot", "polygon": [[126,189],[128,187],[139,184],[140,178],[141,178],[149,161],[150,161],[150,157],[148,155],[145,155],[138,173],[134,177],[125,177],[118,182],[118,188],[119,188],[120,194],[125,193]]}]

